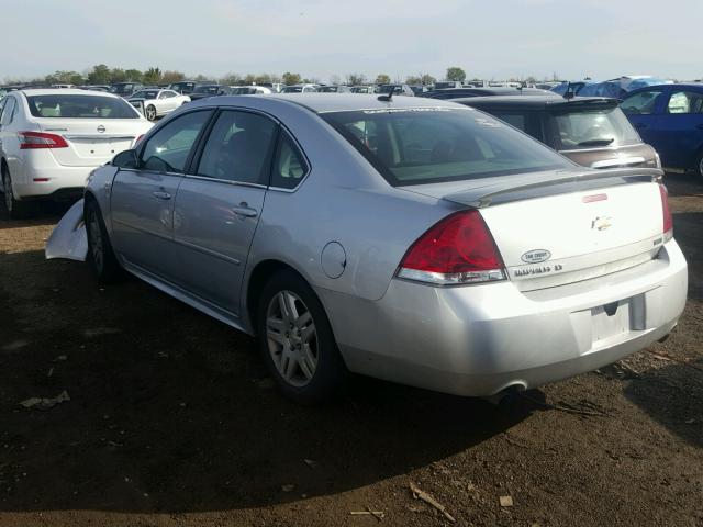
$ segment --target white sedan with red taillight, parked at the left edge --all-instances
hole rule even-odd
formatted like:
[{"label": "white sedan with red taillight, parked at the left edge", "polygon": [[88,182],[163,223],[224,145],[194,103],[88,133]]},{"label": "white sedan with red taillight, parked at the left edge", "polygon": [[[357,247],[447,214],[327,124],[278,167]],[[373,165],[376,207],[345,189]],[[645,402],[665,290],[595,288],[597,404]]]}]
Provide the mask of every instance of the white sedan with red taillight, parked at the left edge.
[{"label": "white sedan with red taillight, parked at the left edge", "polygon": [[74,89],[18,90],[0,101],[0,173],[10,216],[42,198],[79,198],[88,175],[152,127],[124,99]]}]

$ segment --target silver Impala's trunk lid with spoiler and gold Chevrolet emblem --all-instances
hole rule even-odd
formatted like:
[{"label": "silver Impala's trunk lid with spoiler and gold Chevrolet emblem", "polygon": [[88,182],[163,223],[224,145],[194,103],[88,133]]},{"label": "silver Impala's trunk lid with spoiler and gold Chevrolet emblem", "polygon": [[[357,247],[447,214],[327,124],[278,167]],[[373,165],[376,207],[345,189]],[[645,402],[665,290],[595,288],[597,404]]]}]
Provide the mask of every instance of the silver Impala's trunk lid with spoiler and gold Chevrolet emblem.
[{"label": "silver Impala's trunk lid with spoiler and gold Chevrolet emblem", "polygon": [[510,279],[520,290],[532,291],[655,258],[665,242],[660,173],[540,172],[472,188],[464,181],[462,190],[457,183],[404,189],[479,208]]}]

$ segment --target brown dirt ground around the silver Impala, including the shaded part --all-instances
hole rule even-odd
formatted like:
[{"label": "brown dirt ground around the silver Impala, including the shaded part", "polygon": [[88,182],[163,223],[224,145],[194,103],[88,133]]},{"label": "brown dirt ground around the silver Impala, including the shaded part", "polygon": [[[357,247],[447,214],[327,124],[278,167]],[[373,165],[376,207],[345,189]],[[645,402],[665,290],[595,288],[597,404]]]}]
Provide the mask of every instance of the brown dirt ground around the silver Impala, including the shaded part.
[{"label": "brown dirt ground around the silver Impala, including the shaded part", "polygon": [[456,525],[703,525],[703,184],[667,181],[691,270],[671,338],[506,407],[368,379],[295,406],[249,337],[44,260],[62,208],[0,220],[0,525],[449,525],[411,483]]}]

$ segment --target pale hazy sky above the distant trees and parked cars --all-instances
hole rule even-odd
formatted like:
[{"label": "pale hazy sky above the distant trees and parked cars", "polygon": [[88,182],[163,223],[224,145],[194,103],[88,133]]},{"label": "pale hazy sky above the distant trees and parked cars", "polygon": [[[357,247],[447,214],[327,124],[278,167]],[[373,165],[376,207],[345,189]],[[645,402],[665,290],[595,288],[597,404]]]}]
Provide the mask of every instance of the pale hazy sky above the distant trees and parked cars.
[{"label": "pale hazy sky above the distant trees and parked cars", "polygon": [[0,79],[96,64],[322,81],[703,77],[703,0],[4,0]]}]

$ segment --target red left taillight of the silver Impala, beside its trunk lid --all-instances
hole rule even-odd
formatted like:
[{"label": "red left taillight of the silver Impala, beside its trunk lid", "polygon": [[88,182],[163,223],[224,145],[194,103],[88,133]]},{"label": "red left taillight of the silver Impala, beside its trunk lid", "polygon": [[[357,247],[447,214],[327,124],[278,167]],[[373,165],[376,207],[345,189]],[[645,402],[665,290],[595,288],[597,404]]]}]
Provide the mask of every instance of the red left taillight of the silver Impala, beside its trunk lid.
[{"label": "red left taillight of the silver Impala, beside its trunk lid", "polygon": [[400,278],[437,285],[505,280],[503,260],[478,211],[439,221],[408,250]]}]

